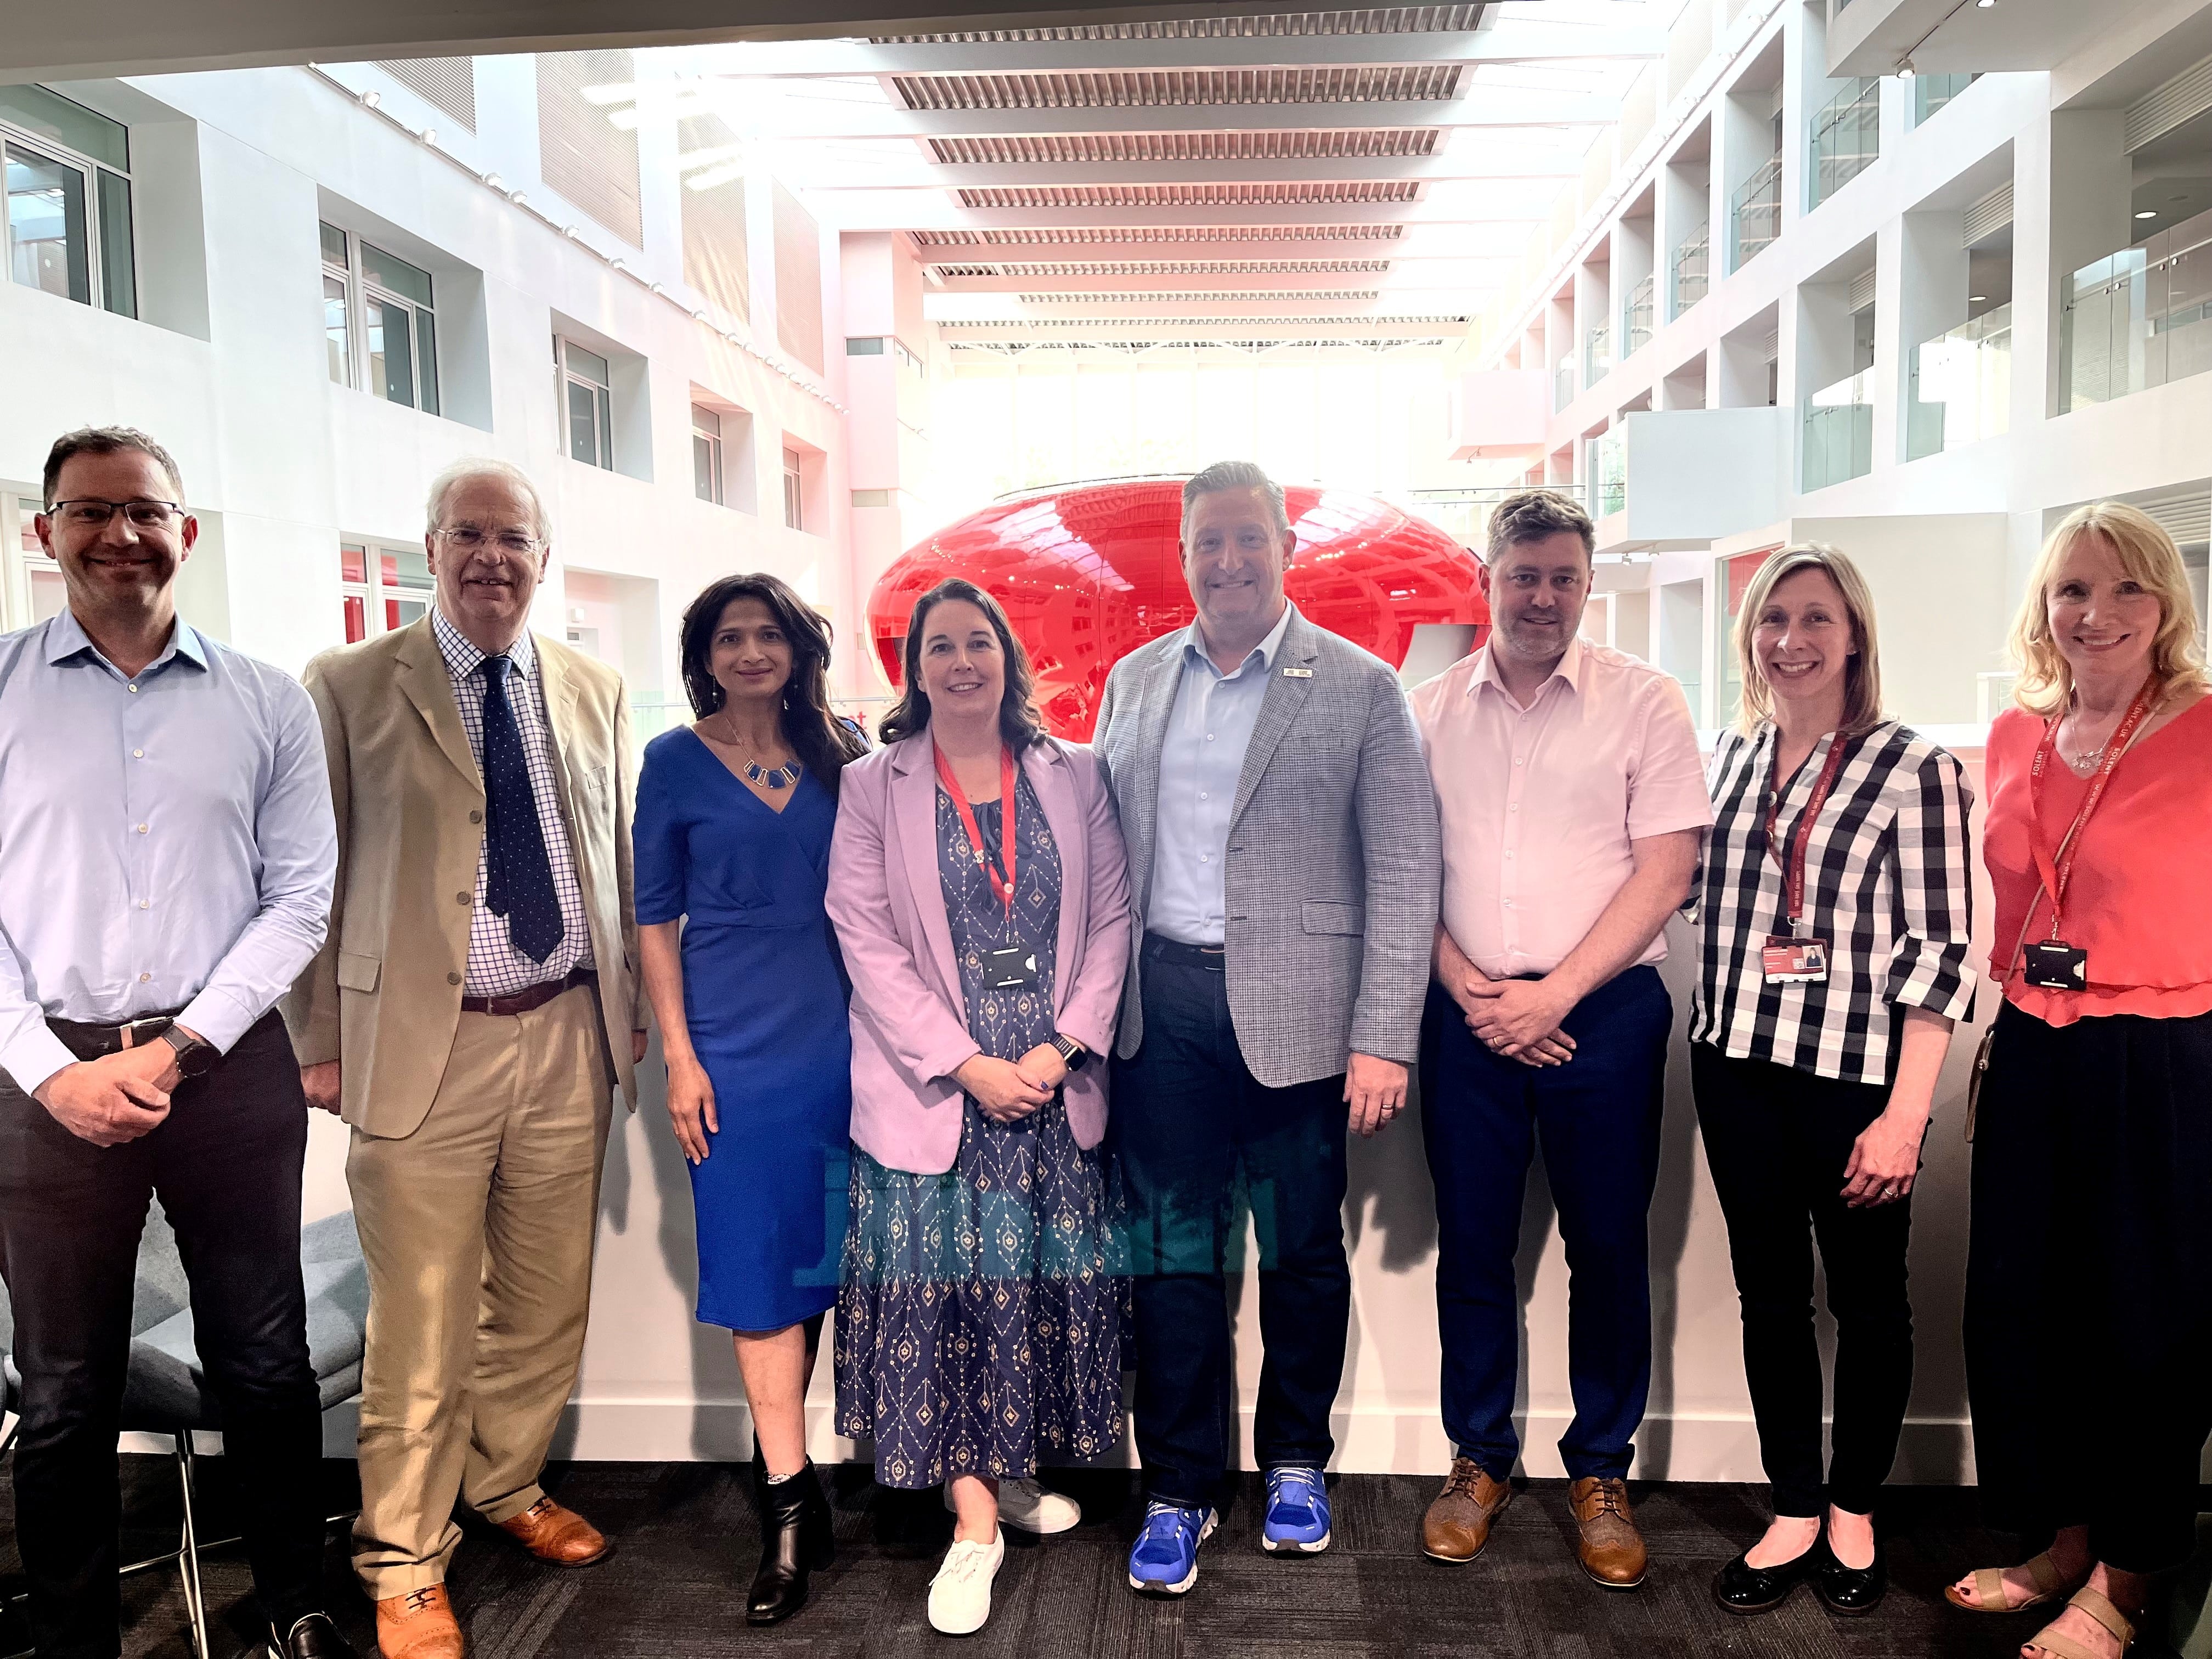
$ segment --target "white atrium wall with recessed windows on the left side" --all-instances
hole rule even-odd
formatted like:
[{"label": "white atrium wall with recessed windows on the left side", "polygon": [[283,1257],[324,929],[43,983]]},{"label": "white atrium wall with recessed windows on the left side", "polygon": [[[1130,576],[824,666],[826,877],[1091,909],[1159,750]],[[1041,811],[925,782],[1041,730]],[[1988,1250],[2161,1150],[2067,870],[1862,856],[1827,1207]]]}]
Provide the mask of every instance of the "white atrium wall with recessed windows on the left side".
[{"label": "white atrium wall with recessed windows on the left side", "polygon": [[[655,73],[655,58],[639,55],[641,77]],[[670,168],[659,175],[668,188],[646,190],[644,250],[540,181],[529,62],[478,60],[476,135],[372,66],[330,77],[261,69],[62,88],[133,124],[142,312],[184,319],[188,332],[0,283],[0,374],[9,385],[0,398],[0,493],[35,495],[46,445],[69,427],[153,431],[177,453],[190,504],[210,529],[195,560],[195,622],[292,670],[345,637],[338,542],[420,546],[422,489],[462,456],[511,460],[549,498],[555,566],[540,597],[542,630],[560,635],[571,624],[571,571],[602,577],[593,584],[599,599],[615,593],[650,624],[626,637],[655,641],[653,650],[619,659],[646,719],[653,706],[681,697],[675,622],[714,575],[774,571],[834,619],[849,619],[836,378],[805,374],[823,387],[810,392],[692,321],[703,301],[684,285]],[[336,80],[376,93],[383,113],[363,108]],[[436,128],[436,148],[396,122]],[[478,173],[498,175],[529,208]],[[655,177],[648,164],[648,186]],[[197,195],[181,199],[186,188]],[[319,219],[431,272],[447,409],[469,420],[330,380]],[[175,230],[155,237],[157,221],[175,221]],[[568,223],[575,237],[562,234]],[[619,257],[635,276],[593,250]],[[834,316],[834,239],[825,237],[821,268],[830,292],[818,303]],[[752,338],[774,354],[772,281],[754,283],[754,294]],[[619,471],[562,449],[555,327],[615,363]],[[732,319],[732,327],[745,334],[748,319]],[[843,363],[825,367],[838,376]],[[695,498],[690,405],[699,394],[752,416],[743,465],[763,511]],[[821,456],[821,513],[807,531],[783,526],[785,440]],[[732,469],[739,460],[730,456]],[[13,500],[7,509],[13,531]],[[11,535],[11,555],[15,546]],[[606,630],[602,639],[615,655]]]}]

